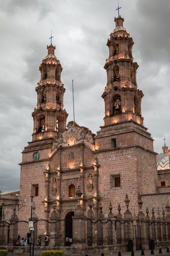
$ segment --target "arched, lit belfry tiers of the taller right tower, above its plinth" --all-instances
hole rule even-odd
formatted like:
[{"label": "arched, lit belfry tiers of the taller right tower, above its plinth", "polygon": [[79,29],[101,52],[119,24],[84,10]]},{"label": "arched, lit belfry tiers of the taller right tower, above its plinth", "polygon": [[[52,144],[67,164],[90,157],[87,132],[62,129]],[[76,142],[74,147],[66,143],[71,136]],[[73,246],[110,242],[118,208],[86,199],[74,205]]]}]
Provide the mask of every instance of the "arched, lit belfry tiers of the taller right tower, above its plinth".
[{"label": "arched, lit belfry tiers of the taller right tower, above its plinth", "polygon": [[123,27],[124,19],[115,18],[116,28],[107,40],[109,57],[104,68],[107,85],[102,95],[105,102],[104,125],[134,120],[143,125],[141,99],[143,93],[137,89],[137,62],[133,61],[133,40]]}]

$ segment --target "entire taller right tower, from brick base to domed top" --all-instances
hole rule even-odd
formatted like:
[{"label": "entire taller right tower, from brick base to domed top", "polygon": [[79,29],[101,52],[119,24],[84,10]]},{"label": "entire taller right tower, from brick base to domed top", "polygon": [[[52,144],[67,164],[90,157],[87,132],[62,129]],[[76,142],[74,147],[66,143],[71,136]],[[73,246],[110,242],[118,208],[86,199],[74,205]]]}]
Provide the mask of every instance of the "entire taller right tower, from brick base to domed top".
[{"label": "entire taller right tower, from brick base to domed top", "polygon": [[[137,211],[138,195],[157,191],[156,153],[153,139],[143,125],[141,99],[130,34],[124,19],[115,18],[116,27],[107,40],[109,57],[104,69],[107,84],[102,94],[105,103],[104,125],[95,137],[95,153],[99,168],[99,190],[110,201],[123,202],[122,195],[131,194],[132,209]],[[103,184],[108,184],[106,191]],[[105,190],[104,190],[105,189]]]}]

